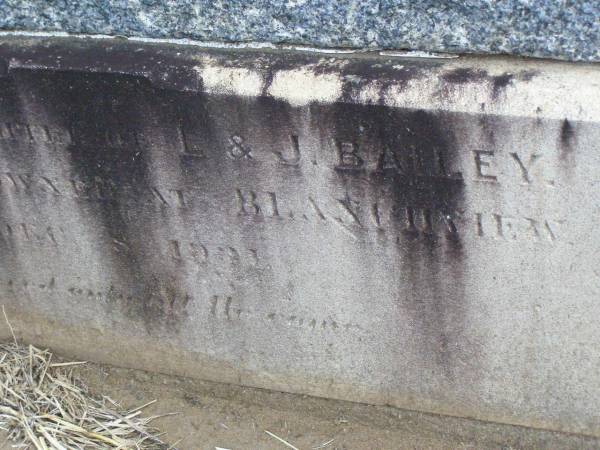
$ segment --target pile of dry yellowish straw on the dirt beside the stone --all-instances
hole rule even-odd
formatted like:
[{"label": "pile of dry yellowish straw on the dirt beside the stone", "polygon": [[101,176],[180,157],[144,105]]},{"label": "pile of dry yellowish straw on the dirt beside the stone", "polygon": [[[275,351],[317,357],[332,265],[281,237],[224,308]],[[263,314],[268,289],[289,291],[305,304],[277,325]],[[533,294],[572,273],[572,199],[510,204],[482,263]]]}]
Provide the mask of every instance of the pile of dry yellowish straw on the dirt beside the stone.
[{"label": "pile of dry yellowish straw on the dirt beside the stone", "polygon": [[158,416],[142,417],[150,403],[123,410],[108,397],[92,396],[73,375],[79,364],[52,363],[52,353],[16,339],[0,344],[0,428],[15,448],[171,448],[150,426]]}]

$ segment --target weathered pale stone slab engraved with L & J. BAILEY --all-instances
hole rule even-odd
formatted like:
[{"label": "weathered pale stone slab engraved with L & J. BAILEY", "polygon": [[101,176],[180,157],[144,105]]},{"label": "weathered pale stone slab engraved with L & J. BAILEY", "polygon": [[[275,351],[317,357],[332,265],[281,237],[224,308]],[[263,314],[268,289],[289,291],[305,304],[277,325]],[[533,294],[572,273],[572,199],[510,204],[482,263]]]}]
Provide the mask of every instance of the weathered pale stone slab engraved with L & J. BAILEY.
[{"label": "weathered pale stone slab engraved with L & J. BAILEY", "polygon": [[597,67],[22,38],[0,67],[26,339],[600,435]]}]

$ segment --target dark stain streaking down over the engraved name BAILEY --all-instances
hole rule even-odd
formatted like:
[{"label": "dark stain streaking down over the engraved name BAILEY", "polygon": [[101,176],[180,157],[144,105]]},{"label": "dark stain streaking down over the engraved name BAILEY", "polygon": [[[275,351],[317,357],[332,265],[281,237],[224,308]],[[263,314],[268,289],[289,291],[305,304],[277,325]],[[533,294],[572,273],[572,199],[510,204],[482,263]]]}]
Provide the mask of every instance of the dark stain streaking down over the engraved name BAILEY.
[{"label": "dark stain streaking down over the engraved name BAILEY", "polygon": [[468,323],[458,116],[341,103],[320,111],[315,108],[315,126],[323,127],[322,134],[333,127],[334,139],[357,153],[337,171],[349,197],[360,203],[366,192],[374,192],[375,198],[391,199],[390,225],[404,269],[397,281],[404,292],[398,298],[399,321],[407,320],[408,311],[422,358],[433,360],[453,382],[458,362],[478,354],[461,339]]}]

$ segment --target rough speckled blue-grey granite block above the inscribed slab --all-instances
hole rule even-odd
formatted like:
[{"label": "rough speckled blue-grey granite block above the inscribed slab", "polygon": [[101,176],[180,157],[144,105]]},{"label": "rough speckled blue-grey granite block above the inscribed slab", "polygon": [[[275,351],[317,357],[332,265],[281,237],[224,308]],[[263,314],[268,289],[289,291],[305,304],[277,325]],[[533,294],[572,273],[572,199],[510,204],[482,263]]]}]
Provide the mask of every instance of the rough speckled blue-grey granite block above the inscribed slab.
[{"label": "rough speckled blue-grey granite block above the inscribed slab", "polygon": [[0,0],[0,29],[600,60],[595,0]]}]

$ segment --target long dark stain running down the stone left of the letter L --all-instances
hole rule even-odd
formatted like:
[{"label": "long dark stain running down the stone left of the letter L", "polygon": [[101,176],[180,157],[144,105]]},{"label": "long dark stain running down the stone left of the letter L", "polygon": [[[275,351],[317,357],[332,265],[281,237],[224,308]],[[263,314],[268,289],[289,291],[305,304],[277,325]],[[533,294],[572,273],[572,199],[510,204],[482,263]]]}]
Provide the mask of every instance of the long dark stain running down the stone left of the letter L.
[{"label": "long dark stain running down the stone left of the letter L", "polygon": [[151,129],[150,119],[164,107],[154,103],[159,92],[144,78],[127,75],[41,70],[27,76],[48,114],[71,130],[71,176],[80,183],[79,195],[97,200],[88,207],[101,224],[97,240],[108,265],[122,280],[122,312],[150,334],[176,330],[189,296],[176,272],[148,262],[150,235],[135,201],[147,194],[144,186],[152,186],[142,130]]}]

